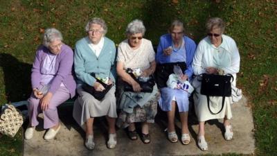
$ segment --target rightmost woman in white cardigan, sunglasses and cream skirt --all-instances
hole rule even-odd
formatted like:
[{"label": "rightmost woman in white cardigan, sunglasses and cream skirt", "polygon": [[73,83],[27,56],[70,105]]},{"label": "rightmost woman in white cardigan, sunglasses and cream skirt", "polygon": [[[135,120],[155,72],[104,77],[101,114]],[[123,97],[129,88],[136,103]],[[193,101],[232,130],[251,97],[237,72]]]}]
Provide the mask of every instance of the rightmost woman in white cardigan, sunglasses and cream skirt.
[{"label": "rightmost woman in white cardigan, sunglasses and cream skirt", "polygon": [[[201,73],[224,74],[231,73],[233,75],[233,84],[235,86],[236,73],[240,70],[240,54],[235,41],[224,35],[224,21],[218,17],[208,19],[206,23],[207,37],[205,37],[197,46],[195,57],[193,59],[193,72],[195,75]],[[195,113],[199,121],[198,143],[201,150],[208,150],[208,144],[205,140],[205,121],[211,119],[224,118],[224,137],[226,140],[231,140],[233,131],[229,119],[232,117],[231,113],[231,97],[226,97],[223,110],[219,114],[211,114],[208,110],[207,98],[200,94],[201,82],[195,78],[193,85],[196,88],[194,94]],[[210,96],[209,101],[213,110],[220,110],[222,107],[222,97]]]}]

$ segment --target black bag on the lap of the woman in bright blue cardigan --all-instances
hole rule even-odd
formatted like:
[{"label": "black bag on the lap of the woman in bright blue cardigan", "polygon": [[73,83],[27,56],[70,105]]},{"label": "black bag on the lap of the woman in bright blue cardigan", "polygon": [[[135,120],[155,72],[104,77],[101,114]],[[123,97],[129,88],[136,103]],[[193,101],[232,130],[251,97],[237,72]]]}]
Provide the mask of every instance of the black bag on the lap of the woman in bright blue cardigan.
[{"label": "black bag on the lap of the woman in bright blue cardigan", "polygon": [[171,73],[174,73],[174,66],[177,65],[182,71],[186,70],[186,62],[171,62],[157,64],[157,69],[155,71],[155,80],[157,82],[158,88],[167,87],[166,82]]}]

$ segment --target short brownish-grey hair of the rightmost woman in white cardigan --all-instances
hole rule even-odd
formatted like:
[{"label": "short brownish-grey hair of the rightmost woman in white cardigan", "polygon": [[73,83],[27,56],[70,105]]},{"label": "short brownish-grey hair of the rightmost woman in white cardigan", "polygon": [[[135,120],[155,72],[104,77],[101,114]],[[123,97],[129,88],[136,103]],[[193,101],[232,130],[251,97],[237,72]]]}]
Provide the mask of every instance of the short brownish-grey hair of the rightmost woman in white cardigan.
[{"label": "short brownish-grey hair of the rightmost woman in white cardigan", "polygon": [[206,31],[207,33],[210,33],[213,28],[220,28],[221,33],[224,33],[225,30],[225,23],[224,21],[219,17],[213,17],[211,19],[208,19],[206,22]]}]

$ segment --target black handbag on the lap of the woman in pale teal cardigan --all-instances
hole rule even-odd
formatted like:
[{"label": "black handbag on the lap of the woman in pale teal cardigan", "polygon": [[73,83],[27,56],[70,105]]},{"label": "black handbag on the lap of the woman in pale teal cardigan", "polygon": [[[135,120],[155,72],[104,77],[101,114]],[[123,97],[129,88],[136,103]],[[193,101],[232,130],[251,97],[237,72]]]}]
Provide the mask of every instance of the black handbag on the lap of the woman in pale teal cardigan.
[{"label": "black handbag on the lap of the woman in pale teal cardigan", "polygon": [[[94,73],[91,73],[91,76],[93,76],[95,78]],[[109,92],[109,89],[111,89],[111,87],[113,85],[112,84],[107,85],[107,84],[103,83],[101,80],[98,80],[97,78],[96,78],[96,82],[100,83],[103,87],[105,87],[105,89],[102,92],[96,91],[96,89],[94,89],[93,86],[87,85],[87,83],[82,85],[82,89],[84,89],[85,92],[88,92],[89,94],[91,94],[98,101],[101,101],[105,97],[107,92]]]}]

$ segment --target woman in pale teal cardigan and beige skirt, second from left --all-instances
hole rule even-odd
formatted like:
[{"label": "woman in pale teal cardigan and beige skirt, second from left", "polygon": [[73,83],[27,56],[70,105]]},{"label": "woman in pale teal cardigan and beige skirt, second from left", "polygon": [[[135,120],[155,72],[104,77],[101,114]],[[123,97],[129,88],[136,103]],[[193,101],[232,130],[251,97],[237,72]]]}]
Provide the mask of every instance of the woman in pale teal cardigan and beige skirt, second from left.
[{"label": "woman in pale teal cardigan and beige skirt, second from left", "polygon": [[91,85],[98,92],[102,92],[105,87],[96,82],[96,78],[91,76],[94,73],[97,78],[109,78],[109,85],[114,84],[116,68],[114,61],[116,57],[116,46],[113,41],[105,37],[107,25],[100,18],[93,18],[85,27],[87,37],[79,40],[75,45],[74,67],[77,77],[77,92],[79,94],[73,107],[73,117],[77,123],[86,131],[84,145],[93,150],[93,120],[98,116],[106,116],[109,125],[108,148],[116,146],[116,97],[115,86],[111,87],[105,97],[98,101],[88,92],[82,89],[86,83]]}]

